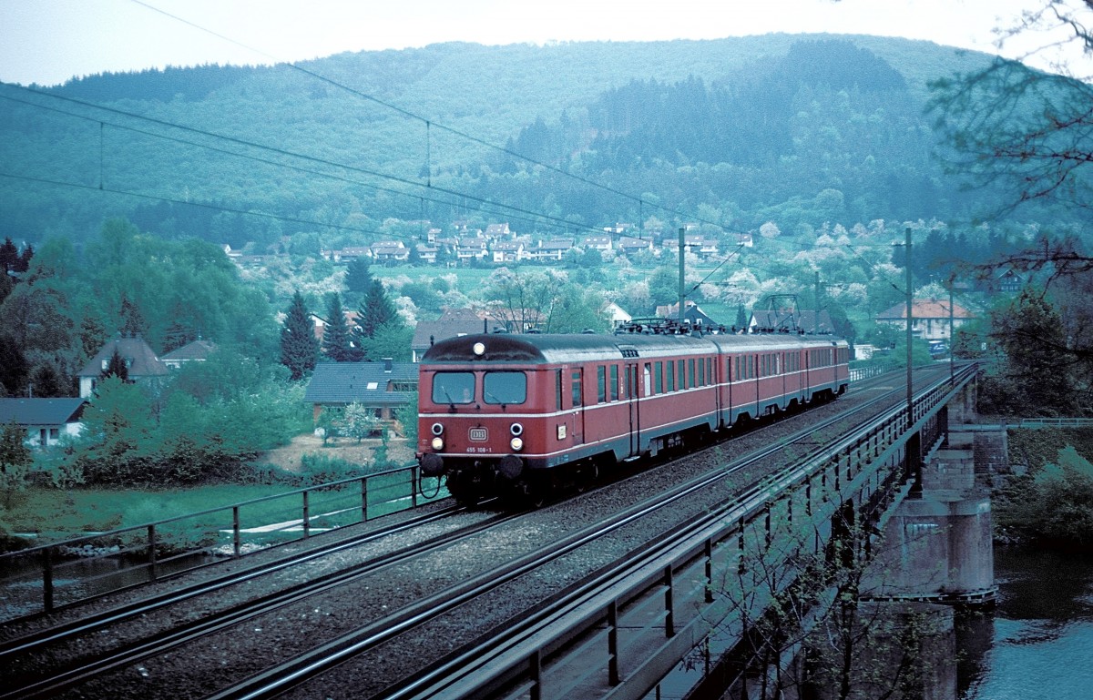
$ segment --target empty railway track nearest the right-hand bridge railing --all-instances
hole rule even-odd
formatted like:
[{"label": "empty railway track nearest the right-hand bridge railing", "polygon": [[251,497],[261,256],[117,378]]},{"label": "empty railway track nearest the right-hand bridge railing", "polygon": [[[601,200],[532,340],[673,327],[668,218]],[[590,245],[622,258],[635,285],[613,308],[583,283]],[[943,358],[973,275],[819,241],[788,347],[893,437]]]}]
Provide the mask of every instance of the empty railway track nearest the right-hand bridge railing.
[{"label": "empty railway track nearest the right-hand bridge railing", "polygon": [[[315,697],[320,688],[329,687],[330,684],[324,685],[321,680],[314,679],[320,679],[324,674],[345,664],[348,660],[352,660],[359,669],[356,672],[340,671],[339,676],[343,679],[337,685],[366,689],[367,692],[363,693],[363,697],[390,698],[392,700],[434,697],[434,693],[439,693],[436,697],[457,697],[445,693],[450,692],[450,689],[456,687],[457,679],[472,675],[481,660],[495,657],[501,653],[501,650],[513,643],[514,639],[526,638],[534,630],[540,629],[541,626],[549,625],[550,620],[563,617],[567,609],[581,605],[591,593],[609,585],[609,582],[619,576],[618,570],[630,570],[660,556],[663,547],[668,546],[662,545],[663,533],[643,542],[640,547],[633,550],[616,549],[624,551],[624,554],[607,567],[602,567],[598,571],[590,571],[590,577],[583,577],[574,585],[559,591],[553,596],[529,601],[528,615],[494,629],[482,629],[481,636],[474,642],[456,653],[434,661],[432,664],[425,664],[423,672],[395,681],[386,688],[379,688],[375,684],[380,664],[369,656],[384,655],[386,653],[384,644],[401,634],[427,634],[428,632],[425,630],[434,625],[443,628],[445,618],[469,601],[487,598],[487,596],[495,595],[502,586],[518,584],[525,578],[533,581],[534,572],[540,571],[551,562],[562,560],[564,557],[579,558],[583,548],[611,548],[604,545],[608,537],[619,535],[625,527],[639,527],[643,521],[655,519],[665,511],[678,508],[684,501],[719,490],[719,486],[732,484],[731,489],[737,490],[738,499],[748,497],[749,493],[756,493],[760,488],[757,482],[767,477],[769,473],[764,471],[749,474],[749,470],[761,467],[764,463],[776,459],[778,453],[789,446],[812,443],[813,436],[818,431],[833,431],[838,435],[844,428],[851,428],[860,423],[859,416],[869,414],[881,406],[888,407],[898,404],[903,399],[902,388],[895,390],[885,388],[880,391],[879,395],[863,401],[850,411],[810,425],[778,440],[777,443],[766,444],[734,460],[725,465],[724,468],[701,474],[669,491],[623,509],[601,522],[572,533],[564,541],[554,543],[538,553],[532,553],[524,559],[509,562],[505,567],[500,567],[481,577],[480,580],[467,582],[466,588],[453,591],[450,595],[437,596],[428,605],[422,606],[421,609],[408,610],[404,615],[392,617],[387,625],[375,625],[345,634],[328,645],[225,688],[213,697],[218,699]],[[808,462],[812,459],[812,454],[821,449],[822,446],[815,446],[796,461]],[[743,474],[748,474],[748,476],[743,479],[738,478]],[[742,486],[745,483],[749,485]],[[733,499],[733,502],[738,499]],[[669,538],[682,537],[687,533],[709,527],[710,523],[724,517],[726,508],[728,506],[709,502],[698,517],[683,519],[674,523],[669,529],[671,534]],[[577,567],[579,563],[574,566]],[[532,590],[534,586],[529,582],[524,588]],[[486,603],[485,605],[492,604]],[[481,602],[479,606],[482,606]],[[466,617],[473,618],[472,615]],[[420,644],[409,639],[407,645],[420,648]],[[346,676],[351,680],[346,680]],[[293,692],[294,688],[298,688],[298,691]]]}]

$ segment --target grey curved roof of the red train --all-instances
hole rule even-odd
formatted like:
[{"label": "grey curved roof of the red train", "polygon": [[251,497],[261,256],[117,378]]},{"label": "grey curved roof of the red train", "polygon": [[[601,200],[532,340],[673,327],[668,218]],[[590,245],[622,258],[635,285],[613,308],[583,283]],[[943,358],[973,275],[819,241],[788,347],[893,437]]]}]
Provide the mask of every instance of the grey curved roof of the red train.
[{"label": "grey curved roof of the red train", "polygon": [[[475,344],[482,353],[475,354]],[[428,348],[422,364],[448,363],[586,363],[612,361],[624,357],[690,355],[695,353],[777,351],[801,347],[831,347],[841,339],[789,334],[662,335],[622,333],[478,333],[440,341]],[[719,348],[719,351],[718,351]]]}]

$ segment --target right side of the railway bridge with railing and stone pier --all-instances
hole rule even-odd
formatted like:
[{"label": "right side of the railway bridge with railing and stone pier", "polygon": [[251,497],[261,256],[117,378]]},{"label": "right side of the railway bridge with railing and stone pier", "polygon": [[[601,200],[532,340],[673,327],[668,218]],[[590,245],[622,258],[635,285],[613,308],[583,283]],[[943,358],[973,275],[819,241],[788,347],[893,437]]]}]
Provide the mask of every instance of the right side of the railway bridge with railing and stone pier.
[{"label": "right side of the railway bridge with railing and stone pier", "polygon": [[[906,405],[853,435],[819,439],[825,444],[806,463],[766,477],[624,578],[590,586],[579,605],[400,697],[759,697],[769,666],[756,674],[744,640],[794,591],[820,607],[845,595],[823,562],[859,572],[856,606],[903,614],[991,601],[990,502],[975,486],[985,436],[971,427],[975,377],[969,365],[908,389]],[[799,593],[809,577],[824,585]],[[818,624],[809,615],[798,621]],[[804,650],[790,640],[776,653]]]}]

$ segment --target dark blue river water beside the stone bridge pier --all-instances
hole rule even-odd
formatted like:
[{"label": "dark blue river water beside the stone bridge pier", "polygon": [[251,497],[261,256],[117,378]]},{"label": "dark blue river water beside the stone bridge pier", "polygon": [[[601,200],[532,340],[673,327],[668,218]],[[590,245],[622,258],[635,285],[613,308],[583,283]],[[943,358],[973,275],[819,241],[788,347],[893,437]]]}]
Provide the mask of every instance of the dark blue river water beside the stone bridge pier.
[{"label": "dark blue river water beside the stone bridge pier", "polygon": [[996,547],[995,579],[957,618],[957,698],[1093,699],[1093,556]]}]

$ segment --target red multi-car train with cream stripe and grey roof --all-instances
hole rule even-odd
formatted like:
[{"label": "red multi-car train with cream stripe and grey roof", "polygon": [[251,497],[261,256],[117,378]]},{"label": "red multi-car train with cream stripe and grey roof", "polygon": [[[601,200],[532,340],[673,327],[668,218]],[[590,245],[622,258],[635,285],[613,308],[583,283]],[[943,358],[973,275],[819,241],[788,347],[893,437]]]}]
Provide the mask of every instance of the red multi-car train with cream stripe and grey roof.
[{"label": "red multi-car train with cream stripe and grey roof", "polygon": [[420,368],[418,456],[465,501],[540,495],[606,465],[832,399],[845,341],[791,334],[491,334]]}]

